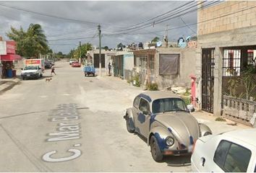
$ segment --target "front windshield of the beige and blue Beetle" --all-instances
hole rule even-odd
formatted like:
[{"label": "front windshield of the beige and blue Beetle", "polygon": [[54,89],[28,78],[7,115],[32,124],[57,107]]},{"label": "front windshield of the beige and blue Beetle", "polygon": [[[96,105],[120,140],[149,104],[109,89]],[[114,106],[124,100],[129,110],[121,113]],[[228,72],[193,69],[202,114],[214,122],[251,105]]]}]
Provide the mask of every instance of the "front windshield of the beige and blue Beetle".
[{"label": "front windshield of the beige and blue Beetle", "polygon": [[152,104],[153,113],[171,112],[171,111],[186,111],[187,107],[182,99],[166,98],[155,99]]}]

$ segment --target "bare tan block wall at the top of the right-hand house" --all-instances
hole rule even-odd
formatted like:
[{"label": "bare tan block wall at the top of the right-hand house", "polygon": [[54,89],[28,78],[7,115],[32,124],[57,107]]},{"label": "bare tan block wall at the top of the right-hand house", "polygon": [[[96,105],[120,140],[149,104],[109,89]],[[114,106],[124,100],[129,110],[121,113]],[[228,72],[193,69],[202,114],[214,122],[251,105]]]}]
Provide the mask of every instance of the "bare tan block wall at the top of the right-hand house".
[{"label": "bare tan block wall at the top of the right-hand house", "polygon": [[199,11],[198,35],[256,25],[256,1],[223,1]]}]

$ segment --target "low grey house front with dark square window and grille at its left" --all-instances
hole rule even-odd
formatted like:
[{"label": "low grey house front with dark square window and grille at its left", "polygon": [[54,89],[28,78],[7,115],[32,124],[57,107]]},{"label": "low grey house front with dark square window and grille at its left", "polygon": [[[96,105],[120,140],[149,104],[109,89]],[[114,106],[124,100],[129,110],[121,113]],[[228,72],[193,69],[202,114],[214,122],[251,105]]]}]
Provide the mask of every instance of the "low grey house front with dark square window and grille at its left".
[{"label": "low grey house front with dark square window and grille at its left", "polygon": [[156,83],[160,89],[191,86],[189,76],[195,75],[195,48],[135,50],[134,56],[140,84]]}]

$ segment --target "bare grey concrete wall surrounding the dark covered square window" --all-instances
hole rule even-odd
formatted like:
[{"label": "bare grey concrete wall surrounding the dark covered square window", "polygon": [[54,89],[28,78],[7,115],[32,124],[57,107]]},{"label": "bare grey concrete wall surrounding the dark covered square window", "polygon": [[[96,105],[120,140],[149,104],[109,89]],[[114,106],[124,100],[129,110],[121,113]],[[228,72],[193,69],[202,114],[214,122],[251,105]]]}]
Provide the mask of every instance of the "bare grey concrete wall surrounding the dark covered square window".
[{"label": "bare grey concrete wall surrounding the dark covered square window", "polygon": [[[176,75],[159,74],[159,56],[161,54],[179,54],[179,72]],[[155,81],[159,88],[168,86],[191,86],[189,75],[195,75],[195,48],[158,48],[155,53]]]}]

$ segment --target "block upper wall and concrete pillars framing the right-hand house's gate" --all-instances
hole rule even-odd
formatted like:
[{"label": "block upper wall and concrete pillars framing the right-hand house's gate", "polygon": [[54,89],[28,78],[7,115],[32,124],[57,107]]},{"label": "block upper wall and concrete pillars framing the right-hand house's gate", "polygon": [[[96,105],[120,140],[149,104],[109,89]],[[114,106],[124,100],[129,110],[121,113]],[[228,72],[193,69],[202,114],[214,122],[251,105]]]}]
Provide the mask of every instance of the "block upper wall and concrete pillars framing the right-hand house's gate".
[{"label": "block upper wall and concrete pillars framing the right-hand house's gate", "polygon": [[202,108],[202,48],[215,48],[213,115],[220,116],[223,48],[256,45],[256,1],[224,1],[198,10],[197,22],[197,108]]}]

